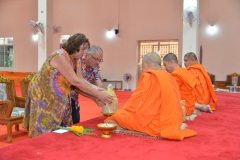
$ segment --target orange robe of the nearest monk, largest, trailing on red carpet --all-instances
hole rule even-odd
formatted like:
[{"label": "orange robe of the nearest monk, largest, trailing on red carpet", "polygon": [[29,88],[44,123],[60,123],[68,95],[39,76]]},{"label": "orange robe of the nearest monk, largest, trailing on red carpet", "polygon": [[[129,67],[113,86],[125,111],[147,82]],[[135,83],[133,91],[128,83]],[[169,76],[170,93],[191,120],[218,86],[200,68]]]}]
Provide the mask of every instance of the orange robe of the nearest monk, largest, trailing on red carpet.
[{"label": "orange robe of the nearest monk, largest, trailing on red carpet", "polygon": [[183,113],[179,88],[173,77],[162,70],[142,73],[124,107],[106,120],[115,120],[129,130],[167,139],[182,140],[196,135],[190,129],[180,130]]}]

